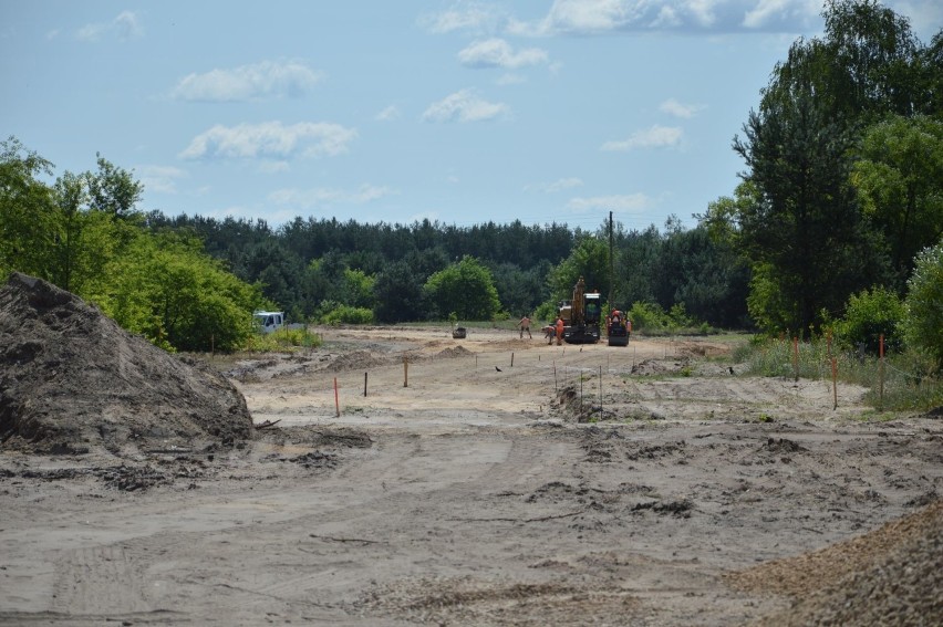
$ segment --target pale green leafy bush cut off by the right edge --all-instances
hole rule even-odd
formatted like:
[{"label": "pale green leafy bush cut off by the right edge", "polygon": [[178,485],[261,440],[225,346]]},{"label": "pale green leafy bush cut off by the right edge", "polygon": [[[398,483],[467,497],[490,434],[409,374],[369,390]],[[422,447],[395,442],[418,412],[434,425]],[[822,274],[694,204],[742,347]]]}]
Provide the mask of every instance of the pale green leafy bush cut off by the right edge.
[{"label": "pale green leafy bush cut off by the right edge", "polygon": [[943,240],[918,254],[904,307],[908,345],[926,352],[943,370]]}]

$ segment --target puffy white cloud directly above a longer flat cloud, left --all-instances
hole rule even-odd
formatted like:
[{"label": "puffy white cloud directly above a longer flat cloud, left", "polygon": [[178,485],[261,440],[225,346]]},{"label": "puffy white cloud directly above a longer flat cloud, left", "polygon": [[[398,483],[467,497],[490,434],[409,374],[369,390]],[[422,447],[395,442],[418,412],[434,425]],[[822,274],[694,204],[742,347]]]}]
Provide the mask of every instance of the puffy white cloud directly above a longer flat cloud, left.
[{"label": "puffy white cloud directly above a longer flat cloud, left", "polygon": [[320,80],[319,72],[297,61],[262,61],[231,70],[189,74],[177,83],[173,95],[184,101],[205,102],[300,96]]}]

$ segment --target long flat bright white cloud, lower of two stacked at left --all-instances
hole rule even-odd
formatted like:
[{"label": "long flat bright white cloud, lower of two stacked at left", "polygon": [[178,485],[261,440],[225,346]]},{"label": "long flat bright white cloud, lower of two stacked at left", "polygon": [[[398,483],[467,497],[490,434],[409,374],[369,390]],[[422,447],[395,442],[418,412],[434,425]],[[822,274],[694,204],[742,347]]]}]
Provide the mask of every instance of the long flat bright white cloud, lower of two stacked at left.
[{"label": "long flat bright white cloud, lower of two stacked at left", "polygon": [[194,137],[179,156],[184,159],[332,156],[345,153],[348,144],[356,138],[356,135],[353,128],[312,122],[291,125],[280,122],[216,125]]}]

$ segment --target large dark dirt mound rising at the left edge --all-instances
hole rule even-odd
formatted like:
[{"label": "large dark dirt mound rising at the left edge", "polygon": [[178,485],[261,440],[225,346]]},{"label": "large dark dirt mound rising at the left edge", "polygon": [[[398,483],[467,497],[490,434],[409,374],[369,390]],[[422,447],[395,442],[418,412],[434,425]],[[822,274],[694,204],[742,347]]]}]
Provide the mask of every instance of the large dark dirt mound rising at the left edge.
[{"label": "large dark dirt mound rising at the left edge", "polygon": [[0,289],[0,447],[118,453],[251,432],[242,395],[199,362],[44,281],[14,273]]}]

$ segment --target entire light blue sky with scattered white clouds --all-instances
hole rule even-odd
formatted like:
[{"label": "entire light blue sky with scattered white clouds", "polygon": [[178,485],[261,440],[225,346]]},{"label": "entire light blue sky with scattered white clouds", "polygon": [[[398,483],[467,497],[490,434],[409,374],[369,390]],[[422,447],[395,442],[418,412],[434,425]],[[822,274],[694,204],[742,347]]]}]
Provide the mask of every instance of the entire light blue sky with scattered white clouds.
[{"label": "entire light blue sky with scattered white clouds", "polygon": [[[929,43],[940,0],[885,0]],[[696,224],[819,0],[0,0],[2,136],[138,208]]]}]

